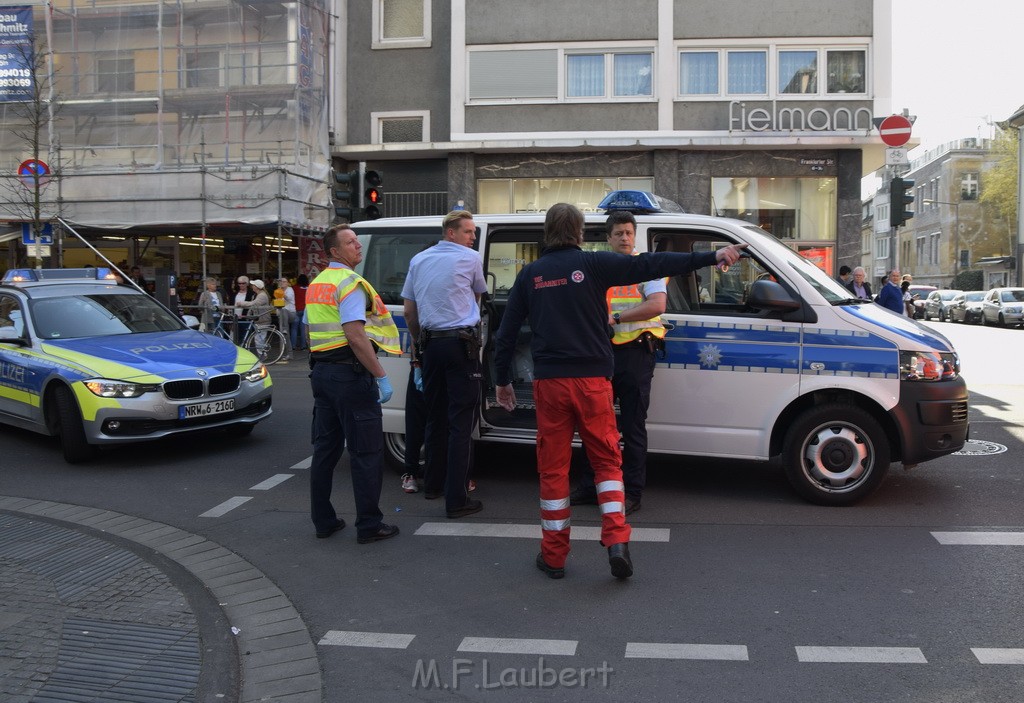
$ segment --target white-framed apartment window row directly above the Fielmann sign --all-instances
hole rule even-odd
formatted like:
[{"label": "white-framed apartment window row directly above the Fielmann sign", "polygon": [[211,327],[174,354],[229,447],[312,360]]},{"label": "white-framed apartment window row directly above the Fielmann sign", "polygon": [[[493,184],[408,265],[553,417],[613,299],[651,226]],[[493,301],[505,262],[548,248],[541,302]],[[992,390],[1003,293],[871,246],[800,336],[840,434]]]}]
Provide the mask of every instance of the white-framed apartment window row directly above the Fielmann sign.
[{"label": "white-framed apartment window row directly above the Fielmann sign", "polygon": [[682,97],[846,97],[867,92],[866,47],[707,44],[679,46],[678,85]]}]

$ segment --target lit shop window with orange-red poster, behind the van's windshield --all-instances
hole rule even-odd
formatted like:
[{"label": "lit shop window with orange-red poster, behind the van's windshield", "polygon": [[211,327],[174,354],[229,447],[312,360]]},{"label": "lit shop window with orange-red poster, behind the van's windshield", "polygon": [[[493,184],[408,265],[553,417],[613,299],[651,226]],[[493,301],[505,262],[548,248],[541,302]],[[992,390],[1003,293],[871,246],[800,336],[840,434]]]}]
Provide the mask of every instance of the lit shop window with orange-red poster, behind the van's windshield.
[{"label": "lit shop window with orange-red poster, behind the van's windshield", "polygon": [[779,239],[836,238],[835,178],[712,178],[712,206]]}]

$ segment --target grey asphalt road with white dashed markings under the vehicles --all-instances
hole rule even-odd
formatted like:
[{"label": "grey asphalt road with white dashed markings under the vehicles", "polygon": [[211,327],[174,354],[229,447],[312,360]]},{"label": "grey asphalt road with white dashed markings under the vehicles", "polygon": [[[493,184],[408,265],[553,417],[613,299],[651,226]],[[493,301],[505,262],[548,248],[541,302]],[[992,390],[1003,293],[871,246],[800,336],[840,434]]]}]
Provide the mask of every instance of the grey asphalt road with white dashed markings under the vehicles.
[{"label": "grey asphalt road with white dashed markings under the vehicles", "polygon": [[[274,414],[241,440],[140,444],[72,467],[52,440],[0,429],[0,494],[138,515],[234,551],[321,642],[332,703],[1016,702],[1024,332],[931,324],[964,357],[972,453],[893,465],[844,509],[803,502],[769,467],[652,460],[626,582],[579,538],[599,525],[592,507],[574,509],[566,577],[534,567],[527,447],[481,447],[477,516],[446,520],[388,475],[381,507],[401,535],[314,539],[302,363],[273,367]],[[349,493],[343,460],[336,504],[350,519]]]}]

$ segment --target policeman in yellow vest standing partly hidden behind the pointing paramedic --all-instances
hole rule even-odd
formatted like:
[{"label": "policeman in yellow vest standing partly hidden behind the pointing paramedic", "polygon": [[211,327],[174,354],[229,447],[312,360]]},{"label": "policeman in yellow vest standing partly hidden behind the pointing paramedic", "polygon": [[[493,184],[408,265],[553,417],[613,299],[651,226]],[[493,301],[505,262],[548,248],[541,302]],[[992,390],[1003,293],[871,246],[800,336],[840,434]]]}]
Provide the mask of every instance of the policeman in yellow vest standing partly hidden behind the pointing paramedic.
[{"label": "policeman in yellow vest standing partly hidden behind the pointing paramedic", "polygon": [[[637,221],[632,213],[614,211],[605,223],[613,252],[636,254]],[[658,317],[668,300],[666,280],[658,278],[634,285],[608,289],[608,324],[615,357],[611,388],[618,398],[618,430],[623,434],[623,483],[626,514],[640,510],[647,482],[647,407],[654,378],[656,352],[663,348],[665,325]],[[569,496],[573,506],[597,503],[594,470],[586,464],[580,484]]]}]

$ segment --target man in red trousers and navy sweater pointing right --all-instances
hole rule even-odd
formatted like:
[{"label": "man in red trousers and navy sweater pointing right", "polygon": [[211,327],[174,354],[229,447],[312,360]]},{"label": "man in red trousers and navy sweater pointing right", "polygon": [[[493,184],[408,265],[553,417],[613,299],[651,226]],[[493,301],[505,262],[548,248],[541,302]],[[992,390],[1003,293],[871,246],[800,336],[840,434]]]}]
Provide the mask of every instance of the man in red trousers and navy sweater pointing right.
[{"label": "man in red trousers and navy sweater pointing right", "polygon": [[537,470],[541,478],[541,554],[537,567],[565,575],[569,554],[569,462],[572,432],[594,467],[601,509],[601,544],[615,578],[633,575],[630,526],[624,510],[622,455],[611,396],[614,358],[608,344],[605,295],[660,276],[688,273],[716,262],[732,264],[745,245],[695,254],[584,252],[584,216],[559,203],[544,221],[544,251],[516,276],[498,331],[498,402],[515,408],[511,366],[516,338],[528,318],[532,331]]}]

